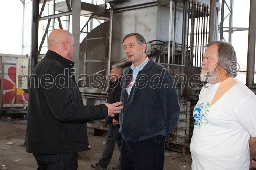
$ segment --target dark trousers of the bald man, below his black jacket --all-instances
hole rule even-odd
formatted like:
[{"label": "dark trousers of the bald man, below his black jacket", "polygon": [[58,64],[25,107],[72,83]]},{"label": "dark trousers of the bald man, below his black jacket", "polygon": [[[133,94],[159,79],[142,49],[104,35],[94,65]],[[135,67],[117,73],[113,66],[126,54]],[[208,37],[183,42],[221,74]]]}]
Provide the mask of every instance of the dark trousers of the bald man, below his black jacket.
[{"label": "dark trousers of the bald man, below his black jacket", "polygon": [[69,154],[34,154],[38,168],[40,170],[75,170],[77,165],[77,153]]}]

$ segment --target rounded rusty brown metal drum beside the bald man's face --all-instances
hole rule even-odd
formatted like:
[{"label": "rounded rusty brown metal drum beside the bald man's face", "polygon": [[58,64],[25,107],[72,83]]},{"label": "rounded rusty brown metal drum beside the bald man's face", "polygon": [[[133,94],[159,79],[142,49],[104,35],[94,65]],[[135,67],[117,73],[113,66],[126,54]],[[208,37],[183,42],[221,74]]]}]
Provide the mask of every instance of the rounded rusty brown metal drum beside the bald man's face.
[{"label": "rounded rusty brown metal drum beside the bald man's face", "polygon": [[109,22],[93,29],[80,44],[80,57],[84,61],[78,86],[85,92],[102,94],[106,92],[106,69],[109,53]]}]

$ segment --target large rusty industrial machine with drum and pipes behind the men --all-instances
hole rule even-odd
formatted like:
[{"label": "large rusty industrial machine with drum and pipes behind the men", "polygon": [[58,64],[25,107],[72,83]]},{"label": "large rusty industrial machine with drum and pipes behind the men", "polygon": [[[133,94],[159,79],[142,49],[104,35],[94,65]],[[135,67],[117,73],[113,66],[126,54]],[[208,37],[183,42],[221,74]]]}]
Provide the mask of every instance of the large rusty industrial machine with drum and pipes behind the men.
[{"label": "large rusty industrial machine with drum and pipes behind the men", "polygon": [[[193,131],[191,113],[201,87],[200,81],[193,80],[199,80],[201,48],[212,31],[209,27],[210,4],[172,3],[164,0],[112,1],[110,20],[93,29],[80,44],[84,77],[78,78],[78,84],[86,105],[102,103],[108,84],[108,68],[121,66],[126,69],[131,65],[125,57],[122,38],[132,32],[142,34],[147,40],[147,56],[172,73],[179,92],[180,118],[167,139],[166,148],[185,153]],[[212,10],[217,12],[218,8]],[[97,81],[99,79],[101,81]],[[101,129],[103,124],[94,121],[88,125]]]}]

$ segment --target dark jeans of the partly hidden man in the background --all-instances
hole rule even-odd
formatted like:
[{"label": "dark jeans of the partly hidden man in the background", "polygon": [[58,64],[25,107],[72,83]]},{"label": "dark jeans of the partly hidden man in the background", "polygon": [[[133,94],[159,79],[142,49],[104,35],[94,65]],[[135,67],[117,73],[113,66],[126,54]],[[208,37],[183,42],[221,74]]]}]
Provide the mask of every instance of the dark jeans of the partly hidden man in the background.
[{"label": "dark jeans of the partly hidden man in the background", "polygon": [[108,135],[106,135],[105,149],[103,151],[102,157],[98,162],[98,164],[103,168],[106,168],[110,163],[116,143],[120,151],[122,136],[118,132],[119,128],[119,125],[114,126],[113,124],[109,124]]}]

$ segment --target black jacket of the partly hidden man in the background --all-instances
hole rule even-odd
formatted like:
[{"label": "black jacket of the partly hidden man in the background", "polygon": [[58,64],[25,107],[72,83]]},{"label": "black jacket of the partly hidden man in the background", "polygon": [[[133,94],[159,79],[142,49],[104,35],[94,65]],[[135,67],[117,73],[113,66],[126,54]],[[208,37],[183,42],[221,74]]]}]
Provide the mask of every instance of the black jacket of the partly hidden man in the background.
[{"label": "black jacket of the partly hidden man in the background", "polygon": [[[106,99],[107,103],[116,103],[120,101],[121,92],[122,92],[121,80],[122,78],[119,78],[110,84],[108,98]],[[113,119],[118,121],[119,113],[115,114],[114,117],[106,116],[106,123],[112,124]]]}]

